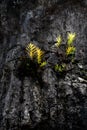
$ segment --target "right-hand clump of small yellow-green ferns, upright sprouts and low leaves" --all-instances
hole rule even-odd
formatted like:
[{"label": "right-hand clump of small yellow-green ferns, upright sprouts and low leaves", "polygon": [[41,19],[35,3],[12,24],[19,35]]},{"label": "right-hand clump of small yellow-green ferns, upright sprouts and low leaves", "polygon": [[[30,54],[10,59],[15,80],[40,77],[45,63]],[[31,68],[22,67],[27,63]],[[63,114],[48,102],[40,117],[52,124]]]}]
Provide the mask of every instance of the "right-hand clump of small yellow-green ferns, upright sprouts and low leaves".
[{"label": "right-hand clump of small yellow-green ferns, upright sprouts and low leaves", "polygon": [[[70,64],[73,64],[74,62],[74,57],[75,57],[75,51],[76,51],[76,48],[74,47],[73,45],[73,42],[76,38],[76,34],[75,33],[68,33],[67,35],[67,43],[66,45],[64,46],[64,49],[62,50],[62,37],[59,35],[58,38],[57,38],[57,41],[55,43],[55,46],[58,48],[58,49],[61,49],[61,52],[62,52],[62,55],[65,57],[63,57],[60,61],[62,61],[62,63],[59,63],[59,64],[56,64],[55,65],[55,71],[57,72],[63,72],[65,70],[67,70],[68,66],[69,66],[69,63]],[[60,53],[61,54],[61,53]],[[58,58],[61,58],[61,55],[58,55]],[[67,63],[68,61],[68,63]]]}]

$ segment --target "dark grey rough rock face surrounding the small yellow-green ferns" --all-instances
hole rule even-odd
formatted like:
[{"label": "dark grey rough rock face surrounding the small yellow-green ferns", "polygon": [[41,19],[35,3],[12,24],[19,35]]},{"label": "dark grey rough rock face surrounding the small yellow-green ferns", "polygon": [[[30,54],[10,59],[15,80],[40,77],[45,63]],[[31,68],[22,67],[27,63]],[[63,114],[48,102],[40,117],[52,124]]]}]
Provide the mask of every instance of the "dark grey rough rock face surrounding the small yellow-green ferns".
[{"label": "dark grey rough rock face surrounding the small yellow-green ferns", "polygon": [[[86,0],[1,1],[0,130],[87,129],[86,12]],[[24,70],[17,75],[29,42],[49,51],[59,34],[66,41],[67,32],[77,34],[73,70],[61,77],[51,67],[40,78]]]}]

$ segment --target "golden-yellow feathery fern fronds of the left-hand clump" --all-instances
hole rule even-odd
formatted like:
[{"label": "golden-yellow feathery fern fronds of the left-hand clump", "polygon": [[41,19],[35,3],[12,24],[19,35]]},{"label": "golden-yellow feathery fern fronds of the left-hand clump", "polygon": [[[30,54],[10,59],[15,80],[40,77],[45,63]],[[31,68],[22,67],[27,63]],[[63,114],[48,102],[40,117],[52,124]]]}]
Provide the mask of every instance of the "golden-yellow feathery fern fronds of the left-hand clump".
[{"label": "golden-yellow feathery fern fronds of the left-hand clump", "polygon": [[[42,63],[44,51],[42,51],[39,47],[37,47],[33,43],[29,43],[26,47],[26,50],[27,50],[27,54],[32,60],[35,58],[38,64]],[[43,62],[41,66],[44,66],[45,64],[46,63]]]}]

